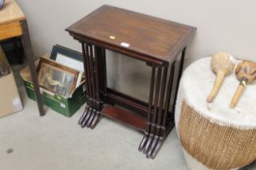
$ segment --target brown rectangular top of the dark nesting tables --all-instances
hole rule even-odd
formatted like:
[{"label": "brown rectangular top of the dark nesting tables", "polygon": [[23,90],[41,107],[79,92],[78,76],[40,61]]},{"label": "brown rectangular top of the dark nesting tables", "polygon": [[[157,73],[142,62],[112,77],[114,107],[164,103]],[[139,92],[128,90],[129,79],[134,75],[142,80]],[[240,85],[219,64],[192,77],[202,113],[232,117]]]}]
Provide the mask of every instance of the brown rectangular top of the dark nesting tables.
[{"label": "brown rectangular top of the dark nesting tables", "polygon": [[184,24],[106,5],[67,28],[73,35],[115,46],[117,51],[128,50],[162,62],[173,61],[195,30]]}]

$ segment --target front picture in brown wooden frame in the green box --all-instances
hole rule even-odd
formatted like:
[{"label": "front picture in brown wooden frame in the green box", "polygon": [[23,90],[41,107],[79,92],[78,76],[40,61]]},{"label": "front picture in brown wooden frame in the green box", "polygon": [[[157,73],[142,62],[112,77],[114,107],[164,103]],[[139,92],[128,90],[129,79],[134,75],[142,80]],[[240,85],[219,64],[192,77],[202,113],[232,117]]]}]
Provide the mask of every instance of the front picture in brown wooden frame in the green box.
[{"label": "front picture in brown wooden frame in the green box", "polygon": [[63,66],[45,57],[41,57],[38,66],[38,83],[46,90],[65,98],[76,89],[80,72]]}]

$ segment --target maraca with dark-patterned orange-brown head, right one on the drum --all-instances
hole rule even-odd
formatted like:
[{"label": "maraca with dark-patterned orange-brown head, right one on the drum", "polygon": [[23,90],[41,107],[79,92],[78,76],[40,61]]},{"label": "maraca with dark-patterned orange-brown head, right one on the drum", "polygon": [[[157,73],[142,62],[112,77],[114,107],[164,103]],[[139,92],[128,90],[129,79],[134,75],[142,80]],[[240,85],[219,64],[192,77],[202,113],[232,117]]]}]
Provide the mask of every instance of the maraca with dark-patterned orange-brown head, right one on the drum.
[{"label": "maraca with dark-patterned orange-brown head, right one on the drum", "polygon": [[256,63],[243,61],[236,66],[236,78],[240,81],[236,89],[236,93],[232,98],[230,107],[235,108],[238,100],[241,98],[242,92],[245,90],[247,83],[254,83],[256,80]]}]

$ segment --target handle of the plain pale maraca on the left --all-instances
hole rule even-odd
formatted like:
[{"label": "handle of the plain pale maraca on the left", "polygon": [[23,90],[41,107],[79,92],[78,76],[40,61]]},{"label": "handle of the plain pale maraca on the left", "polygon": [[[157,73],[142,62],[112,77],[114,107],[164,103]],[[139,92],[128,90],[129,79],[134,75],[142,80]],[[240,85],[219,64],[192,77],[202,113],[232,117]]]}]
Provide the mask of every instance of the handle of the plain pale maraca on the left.
[{"label": "handle of the plain pale maraca on the left", "polygon": [[213,102],[213,100],[215,100],[215,96],[218,94],[219,89],[223,83],[225,76],[226,76],[226,74],[223,71],[219,71],[217,73],[216,79],[215,79],[215,85],[212,88],[212,90],[210,91],[210,95],[207,98],[208,103],[211,103],[211,102]]}]

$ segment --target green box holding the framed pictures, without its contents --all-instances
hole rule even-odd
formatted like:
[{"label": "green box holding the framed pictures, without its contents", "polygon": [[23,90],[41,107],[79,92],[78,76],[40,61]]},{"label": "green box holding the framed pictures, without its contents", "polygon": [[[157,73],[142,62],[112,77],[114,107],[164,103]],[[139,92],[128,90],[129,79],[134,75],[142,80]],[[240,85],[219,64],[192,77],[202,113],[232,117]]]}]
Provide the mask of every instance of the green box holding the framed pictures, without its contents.
[{"label": "green box holding the framed pictures, without its contents", "polygon": [[[35,62],[36,66],[38,66],[39,60]],[[20,71],[20,76],[24,80],[24,86],[28,95],[28,98],[35,100],[36,94],[33,89],[32,78],[30,75],[29,68],[26,67],[24,70]],[[72,117],[74,113],[83,105],[86,101],[85,96],[85,83],[80,84],[79,87],[76,87],[75,91],[72,92],[72,96],[69,98],[65,98],[63,96],[59,96],[51,91],[47,91],[45,89],[41,90],[41,97],[48,107],[53,109],[54,111],[63,114],[66,117]]]}]

